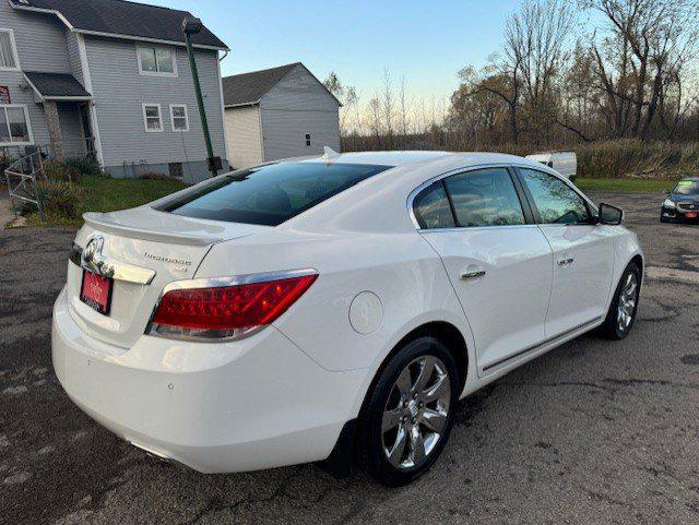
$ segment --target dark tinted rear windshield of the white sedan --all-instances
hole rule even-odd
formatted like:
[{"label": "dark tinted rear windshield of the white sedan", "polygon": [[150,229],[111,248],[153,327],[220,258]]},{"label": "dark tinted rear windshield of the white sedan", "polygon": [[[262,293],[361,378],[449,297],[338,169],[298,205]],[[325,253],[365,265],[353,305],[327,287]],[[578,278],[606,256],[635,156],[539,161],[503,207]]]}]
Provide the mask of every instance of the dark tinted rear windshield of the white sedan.
[{"label": "dark tinted rear windshield of the white sedan", "polygon": [[162,210],[186,217],[276,226],[390,166],[280,163],[220,177]]}]

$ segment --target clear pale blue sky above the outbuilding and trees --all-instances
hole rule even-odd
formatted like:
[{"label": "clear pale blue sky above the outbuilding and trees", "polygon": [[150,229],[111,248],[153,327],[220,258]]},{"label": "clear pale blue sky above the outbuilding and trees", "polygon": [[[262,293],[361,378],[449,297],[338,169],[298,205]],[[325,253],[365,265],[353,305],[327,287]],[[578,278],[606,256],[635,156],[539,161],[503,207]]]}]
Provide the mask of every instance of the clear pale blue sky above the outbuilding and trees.
[{"label": "clear pale blue sky above the outbuilding and trees", "polygon": [[321,81],[334,71],[363,98],[388,69],[414,100],[449,97],[457,73],[502,44],[517,0],[141,0],[190,11],[232,49],[225,75],[300,61]]}]

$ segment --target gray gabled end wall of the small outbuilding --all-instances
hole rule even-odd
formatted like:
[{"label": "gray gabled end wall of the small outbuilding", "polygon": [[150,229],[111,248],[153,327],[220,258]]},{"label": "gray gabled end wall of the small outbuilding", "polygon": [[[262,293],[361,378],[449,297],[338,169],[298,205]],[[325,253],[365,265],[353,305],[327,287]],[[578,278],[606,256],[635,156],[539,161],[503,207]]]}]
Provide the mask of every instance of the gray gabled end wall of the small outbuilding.
[{"label": "gray gabled end wall of the small outbuilding", "polygon": [[[264,160],[340,151],[339,104],[301,65],[260,100]],[[311,145],[306,145],[306,133]]]}]

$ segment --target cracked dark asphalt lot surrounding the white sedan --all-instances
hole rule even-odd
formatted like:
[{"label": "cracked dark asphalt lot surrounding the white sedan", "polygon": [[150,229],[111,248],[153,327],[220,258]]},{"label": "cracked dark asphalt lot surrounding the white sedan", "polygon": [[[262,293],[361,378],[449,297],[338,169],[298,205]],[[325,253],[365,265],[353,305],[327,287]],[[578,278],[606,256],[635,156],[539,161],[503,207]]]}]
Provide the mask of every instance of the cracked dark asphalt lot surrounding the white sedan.
[{"label": "cracked dark asphalt lot surrounding the white sedan", "polygon": [[51,369],[73,232],[0,231],[0,523],[699,523],[699,226],[661,225],[660,193],[590,193],[626,210],[656,269],[633,332],[462,401],[440,461],[401,489],[312,465],[205,476],[115,438]]}]

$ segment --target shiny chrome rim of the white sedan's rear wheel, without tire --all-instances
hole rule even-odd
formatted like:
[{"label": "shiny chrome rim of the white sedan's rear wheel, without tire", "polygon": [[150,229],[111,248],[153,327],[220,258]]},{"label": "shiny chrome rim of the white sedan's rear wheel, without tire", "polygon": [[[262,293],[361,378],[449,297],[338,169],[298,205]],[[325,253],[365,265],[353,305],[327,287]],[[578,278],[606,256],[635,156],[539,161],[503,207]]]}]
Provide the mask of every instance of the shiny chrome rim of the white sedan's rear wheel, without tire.
[{"label": "shiny chrome rim of the white sedan's rear wheel, without tire", "polygon": [[391,465],[407,469],[422,465],[447,426],[451,384],[445,363],[420,356],[403,369],[383,410],[381,441]]}]

